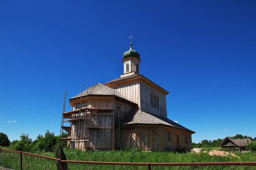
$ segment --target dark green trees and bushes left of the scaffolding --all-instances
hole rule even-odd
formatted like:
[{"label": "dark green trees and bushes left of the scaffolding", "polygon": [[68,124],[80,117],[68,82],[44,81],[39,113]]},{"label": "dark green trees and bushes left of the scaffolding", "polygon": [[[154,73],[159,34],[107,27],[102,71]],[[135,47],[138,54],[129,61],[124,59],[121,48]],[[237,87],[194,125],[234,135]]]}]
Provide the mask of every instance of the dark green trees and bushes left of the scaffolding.
[{"label": "dark green trees and bushes left of the scaffolding", "polygon": [[[63,137],[67,137],[67,133],[63,134]],[[29,138],[29,134],[20,136],[20,140],[9,141],[8,137],[4,133],[0,133],[0,146],[10,150],[18,150],[23,152],[53,152],[56,150],[60,141],[60,136],[55,136],[53,132],[47,130],[45,135],[38,135],[37,138],[32,141]],[[62,146],[66,147],[67,142],[63,141]]]}]

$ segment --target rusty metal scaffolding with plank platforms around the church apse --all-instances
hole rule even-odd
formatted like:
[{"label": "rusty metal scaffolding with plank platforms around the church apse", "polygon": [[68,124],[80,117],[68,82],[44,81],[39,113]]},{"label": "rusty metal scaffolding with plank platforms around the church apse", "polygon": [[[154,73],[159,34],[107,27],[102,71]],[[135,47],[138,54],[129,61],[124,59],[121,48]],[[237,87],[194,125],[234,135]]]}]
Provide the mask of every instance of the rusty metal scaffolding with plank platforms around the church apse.
[{"label": "rusty metal scaffolding with plank platforms around the church apse", "polygon": [[[101,150],[105,148],[114,150],[115,93],[113,95],[112,108],[89,108],[87,101],[88,87],[85,104],[82,103],[82,95],[83,90],[80,104],[78,104],[79,107],[74,107],[70,112],[65,112],[63,109],[61,141],[67,141],[67,148],[81,148],[82,150]],[[64,126],[65,123],[68,123],[69,126]],[[68,137],[63,137],[63,130],[68,132]],[[110,133],[112,134],[112,139],[109,139]],[[73,147],[70,146],[71,143],[73,143]]]}]

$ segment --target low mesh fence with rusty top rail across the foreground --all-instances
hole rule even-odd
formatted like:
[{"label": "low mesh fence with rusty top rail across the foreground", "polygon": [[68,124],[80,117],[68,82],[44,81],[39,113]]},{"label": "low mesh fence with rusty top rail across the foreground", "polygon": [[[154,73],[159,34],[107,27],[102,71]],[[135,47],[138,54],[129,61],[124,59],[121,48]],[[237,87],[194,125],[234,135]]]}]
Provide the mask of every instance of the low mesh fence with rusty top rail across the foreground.
[{"label": "low mesh fence with rusty top rail across the foreground", "polygon": [[13,170],[256,170],[256,162],[130,163],[65,161],[0,148],[0,167]]}]

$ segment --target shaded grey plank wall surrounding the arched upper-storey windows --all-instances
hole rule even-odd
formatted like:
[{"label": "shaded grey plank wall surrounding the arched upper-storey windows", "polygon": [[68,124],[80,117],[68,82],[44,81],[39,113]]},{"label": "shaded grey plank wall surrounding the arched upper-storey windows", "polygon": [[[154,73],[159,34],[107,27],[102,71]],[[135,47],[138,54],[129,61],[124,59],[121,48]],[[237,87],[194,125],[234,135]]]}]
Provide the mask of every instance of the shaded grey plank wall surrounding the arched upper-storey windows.
[{"label": "shaded grey plank wall surrounding the arched upper-storey windows", "polygon": [[[156,91],[154,88],[151,88],[147,84],[143,82],[140,83],[140,109],[151,113],[153,115],[158,115],[161,117],[167,118],[167,110],[166,110],[166,96],[159,91]],[[159,97],[159,109],[153,106],[150,106],[150,94],[156,95]]]}]

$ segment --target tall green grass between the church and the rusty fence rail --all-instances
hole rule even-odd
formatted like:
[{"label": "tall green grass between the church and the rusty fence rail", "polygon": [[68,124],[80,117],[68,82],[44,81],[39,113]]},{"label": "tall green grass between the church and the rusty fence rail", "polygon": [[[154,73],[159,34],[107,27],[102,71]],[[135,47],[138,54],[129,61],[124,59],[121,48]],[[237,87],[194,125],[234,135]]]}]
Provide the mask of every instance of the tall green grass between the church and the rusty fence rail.
[{"label": "tall green grass between the church and the rusty fence rail", "polygon": [[[85,151],[70,149],[65,150],[67,160],[72,161],[104,161],[104,162],[240,162],[256,161],[255,152],[234,152],[238,157],[210,156],[207,153],[176,153],[176,152],[145,152],[137,148],[116,151]],[[41,155],[54,157],[54,152]]]}]

